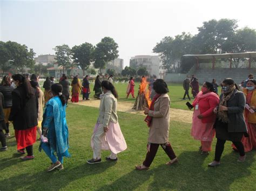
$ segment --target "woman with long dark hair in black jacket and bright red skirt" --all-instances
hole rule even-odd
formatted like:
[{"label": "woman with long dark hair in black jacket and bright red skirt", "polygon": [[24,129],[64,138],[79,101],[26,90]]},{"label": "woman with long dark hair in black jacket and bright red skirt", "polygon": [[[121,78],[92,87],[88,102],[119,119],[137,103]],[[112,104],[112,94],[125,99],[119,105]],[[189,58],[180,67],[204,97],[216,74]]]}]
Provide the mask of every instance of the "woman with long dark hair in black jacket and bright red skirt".
[{"label": "woman with long dark hair in black jacket and bright red skirt", "polygon": [[12,76],[17,88],[12,91],[12,107],[9,121],[14,124],[17,150],[24,154],[25,148],[28,155],[22,160],[33,159],[33,144],[36,142],[36,127],[38,100],[36,90],[30,82],[21,74]]}]

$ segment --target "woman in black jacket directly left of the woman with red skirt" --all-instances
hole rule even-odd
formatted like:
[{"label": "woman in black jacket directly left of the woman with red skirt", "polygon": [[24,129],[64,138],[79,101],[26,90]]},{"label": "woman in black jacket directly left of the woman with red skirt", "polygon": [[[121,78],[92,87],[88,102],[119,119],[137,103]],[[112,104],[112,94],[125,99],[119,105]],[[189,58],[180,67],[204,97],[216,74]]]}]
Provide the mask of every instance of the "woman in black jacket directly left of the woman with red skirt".
[{"label": "woman in black jacket directly left of the woman with red skirt", "polygon": [[4,112],[4,122],[6,125],[5,137],[10,137],[9,133],[9,116],[12,106],[12,96],[11,93],[14,90],[14,87],[11,86],[11,79],[9,76],[4,76],[2,80],[2,86],[0,86],[0,92],[4,96],[3,112]]}]

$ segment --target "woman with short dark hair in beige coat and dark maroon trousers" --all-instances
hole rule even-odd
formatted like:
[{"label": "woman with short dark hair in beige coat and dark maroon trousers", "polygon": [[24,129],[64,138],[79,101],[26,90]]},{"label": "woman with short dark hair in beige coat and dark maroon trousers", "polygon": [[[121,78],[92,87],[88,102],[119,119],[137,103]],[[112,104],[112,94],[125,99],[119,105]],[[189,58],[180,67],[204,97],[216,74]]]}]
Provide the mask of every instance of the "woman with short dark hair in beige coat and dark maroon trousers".
[{"label": "woman with short dark hair in beige coat and dark maroon trousers", "polygon": [[162,79],[157,79],[153,83],[156,95],[151,102],[150,108],[145,108],[144,114],[147,115],[145,122],[149,129],[147,144],[147,154],[142,165],[136,166],[139,171],[149,169],[154,157],[156,156],[159,145],[171,159],[166,165],[172,165],[178,159],[169,143],[169,124],[170,124],[170,98],[167,84]]}]

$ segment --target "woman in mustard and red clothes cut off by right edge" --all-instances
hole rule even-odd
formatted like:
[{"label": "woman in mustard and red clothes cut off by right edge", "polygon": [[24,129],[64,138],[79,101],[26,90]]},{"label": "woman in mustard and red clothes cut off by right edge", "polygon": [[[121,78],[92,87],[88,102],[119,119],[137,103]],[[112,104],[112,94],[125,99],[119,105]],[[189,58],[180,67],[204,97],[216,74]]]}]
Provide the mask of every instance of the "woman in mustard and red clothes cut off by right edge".
[{"label": "woman in mustard and red clothes cut off by right edge", "polygon": [[[245,152],[249,152],[256,149],[256,81],[249,79],[246,84],[246,88],[243,92],[246,97],[246,109],[245,109],[245,122],[247,124],[249,137],[242,138],[242,144],[245,147]],[[232,145],[234,150],[237,148]]]}]

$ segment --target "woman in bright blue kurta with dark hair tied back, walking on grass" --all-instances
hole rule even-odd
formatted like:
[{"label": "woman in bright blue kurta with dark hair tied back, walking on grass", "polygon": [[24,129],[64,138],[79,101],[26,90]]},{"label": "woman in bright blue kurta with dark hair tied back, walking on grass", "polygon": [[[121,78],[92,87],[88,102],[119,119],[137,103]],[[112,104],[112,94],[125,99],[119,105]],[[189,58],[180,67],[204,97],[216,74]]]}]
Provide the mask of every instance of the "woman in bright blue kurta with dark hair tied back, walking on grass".
[{"label": "woman in bright blue kurta with dark hair tied back, walking on grass", "polygon": [[[52,84],[51,91],[53,98],[46,104],[42,131],[47,139],[41,140],[39,151],[42,149],[51,159],[52,165],[47,171],[55,168],[64,169],[63,157],[70,157],[69,154],[69,130],[66,124],[66,100],[62,95],[62,85]],[[57,154],[57,157],[55,155]]]}]

